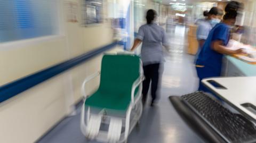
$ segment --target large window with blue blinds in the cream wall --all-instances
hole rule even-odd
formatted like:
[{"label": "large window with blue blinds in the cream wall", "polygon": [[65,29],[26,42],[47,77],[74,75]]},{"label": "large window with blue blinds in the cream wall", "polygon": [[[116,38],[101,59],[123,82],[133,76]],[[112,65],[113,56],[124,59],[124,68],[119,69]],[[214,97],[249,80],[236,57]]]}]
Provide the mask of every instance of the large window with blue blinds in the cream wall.
[{"label": "large window with blue blinds in the cream wall", "polygon": [[0,42],[56,35],[55,0],[0,0]]}]

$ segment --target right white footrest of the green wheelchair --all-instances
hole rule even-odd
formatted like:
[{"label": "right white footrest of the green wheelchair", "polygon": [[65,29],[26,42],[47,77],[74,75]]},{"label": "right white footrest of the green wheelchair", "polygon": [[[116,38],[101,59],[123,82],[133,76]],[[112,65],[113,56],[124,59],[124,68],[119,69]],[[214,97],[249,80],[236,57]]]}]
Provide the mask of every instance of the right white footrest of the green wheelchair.
[{"label": "right white footrest of the green wheelchair", "polygon": [[122,119],[112,117],[108,129],[108,142],[116,143],[121,137]]}]

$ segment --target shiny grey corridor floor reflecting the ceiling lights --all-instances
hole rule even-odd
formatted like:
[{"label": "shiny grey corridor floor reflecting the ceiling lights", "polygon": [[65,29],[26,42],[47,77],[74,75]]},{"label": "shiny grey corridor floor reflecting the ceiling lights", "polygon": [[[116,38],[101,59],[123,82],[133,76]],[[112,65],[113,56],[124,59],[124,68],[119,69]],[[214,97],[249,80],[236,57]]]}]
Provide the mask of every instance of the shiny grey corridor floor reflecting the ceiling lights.
[{"label": "shiny grey corridor floor reflecting the ceiling lights", "polygon": [[[171,49],[165,53],[165,64],[162,78],[161,97],[158,105],[144,108],[140,129],[134,129],[129,136],[130,143],[200,143],[197,136],[174,110],[168,97],[194,92],[198,86],[194,56],[186,53],[185,26],[167,28]],[[150,97],[150,96],[149,96]],[[80,114],[67,117],[53,130],[47,133],[38,143],[85,143],[85,137],[79,127]],[[96,143],[95,141],[89,141]],[[98,142],[97,142],[98,143]]]}]

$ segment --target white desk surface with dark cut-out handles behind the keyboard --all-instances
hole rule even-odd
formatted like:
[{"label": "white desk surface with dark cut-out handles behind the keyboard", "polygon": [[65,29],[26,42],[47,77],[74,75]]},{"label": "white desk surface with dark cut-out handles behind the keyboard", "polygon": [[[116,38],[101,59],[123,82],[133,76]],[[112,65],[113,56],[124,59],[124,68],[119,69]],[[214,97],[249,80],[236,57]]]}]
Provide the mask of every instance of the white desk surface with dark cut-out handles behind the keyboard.
[{"label": "white desk surface with dark cut-out handles behind the keyboard", "polygon": [[[215,88],[208,80],[214,80],[227,89]],[[256,106],[256,77],[209,78],[202,80],[203,84],[250,119],[256,121],[256,114],[241,106],[251,103]]]}]

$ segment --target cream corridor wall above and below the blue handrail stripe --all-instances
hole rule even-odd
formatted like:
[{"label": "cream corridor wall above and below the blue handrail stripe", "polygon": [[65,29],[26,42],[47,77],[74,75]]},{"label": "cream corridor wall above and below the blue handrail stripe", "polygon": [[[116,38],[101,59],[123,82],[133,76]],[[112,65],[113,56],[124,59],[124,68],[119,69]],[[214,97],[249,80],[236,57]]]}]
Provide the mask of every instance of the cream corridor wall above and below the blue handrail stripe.
[{"label": "cream corridor wall above and below the blue handrail stripe", "polygon": [[[67,1],[59,2],[63,35],[0,44],[0,85],[113,42],[109,21],[95,27],[81,27],[79,22],[68,23]],[[81,18],[80,9],[78,15]],[[0,142],[34,142],[70,114],[73,105],[82,97],[83,79],[100,69],[100,61],[101,55],[0,103]],[[86,89],[91,93],[97,86],[95,80],[86,85]]]}]

